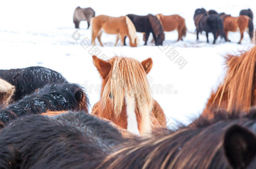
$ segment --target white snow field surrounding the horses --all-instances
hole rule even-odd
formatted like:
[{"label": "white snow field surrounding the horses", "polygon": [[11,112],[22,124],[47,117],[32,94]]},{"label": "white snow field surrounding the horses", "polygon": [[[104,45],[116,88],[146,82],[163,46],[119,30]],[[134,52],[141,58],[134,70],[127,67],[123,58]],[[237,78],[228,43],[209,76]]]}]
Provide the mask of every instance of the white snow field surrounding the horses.
[{"label": "white snow field surrounding the horses", "polygon": [[[100,47],[96,40],[97,47],[92,48],[86,45],[91,40],[87,23],[82,22],[77,31],[74,28],[73,11],[77,6],[91,7],[96,15],[178,14],[185,18],[188,33],[184,41],[176,42],[178,33],[166,32],[164,47],[152,43],[144,46],[142,34],[137,33],[140,39],[137,48],[121,47],[120,42],[114,47],[115,35],[103,34],[104,47]],[[123,55],[143,61],[151,57],[153,68],[148,81],[154,99],[165,111],[169,125],[176,121],[188,124],[191,118],[199,116],[211,91],[222,81],[225,71],[222,56],[248,50],[255,44],[250,42],[247,32],[241,45],[237,44],[240,33],[229,33],[231,43],[218,39],[217,44],[212,45],[213,35],[209,34],[208,44],[204,33],[197,42],[193,14],[196,8],[202,7],[232,16],[238,16],[241,9],[251,8],[256,14],[256,4],[252,0],[243,0],[239,4],[230,0],[195,0],[193,4],[185,0],[1,1],[0,69],[51,68],[62,73],[69,82],[84,86],[93,106],[99,100],[101,78],[92,63],[92,52],[102,58]],[[255,19],[253,23],[256,23]],[[151,39],[152,36],[149,42]],[[172,53],[174,51],[176,55]]]}]

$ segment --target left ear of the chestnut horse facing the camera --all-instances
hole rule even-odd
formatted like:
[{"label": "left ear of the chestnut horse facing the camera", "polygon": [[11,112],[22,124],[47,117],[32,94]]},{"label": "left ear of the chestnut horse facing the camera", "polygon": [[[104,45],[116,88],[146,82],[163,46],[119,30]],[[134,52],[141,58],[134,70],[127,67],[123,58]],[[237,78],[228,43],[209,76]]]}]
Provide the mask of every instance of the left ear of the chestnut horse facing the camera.
[{"label": "left ear of the chestnut horse facing the camera", "polygon": [[92,56],[92,59],[93,59],[93,64],[97,68],[100,76],[102,76],[102,78],[106,78],[108,73],[111,70],[111,64],[107,61],[97,58],[97,56],[95,55]]}]

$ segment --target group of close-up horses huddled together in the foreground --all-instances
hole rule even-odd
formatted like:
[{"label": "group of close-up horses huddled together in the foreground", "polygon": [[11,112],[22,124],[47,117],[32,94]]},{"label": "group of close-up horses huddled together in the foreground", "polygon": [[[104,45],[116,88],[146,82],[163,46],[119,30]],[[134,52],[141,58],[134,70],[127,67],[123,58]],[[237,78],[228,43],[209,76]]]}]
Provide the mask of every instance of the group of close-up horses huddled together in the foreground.
[{"label": "group of close-up horses huddled together in the foreground", "polygon": [[256,47],[226,56],[201,116],[178,129],[152,98],[152,58],[92,62],[102,87],[91,114],[85,88],[56,71],[0,70],[1,169],[255,169]]}]

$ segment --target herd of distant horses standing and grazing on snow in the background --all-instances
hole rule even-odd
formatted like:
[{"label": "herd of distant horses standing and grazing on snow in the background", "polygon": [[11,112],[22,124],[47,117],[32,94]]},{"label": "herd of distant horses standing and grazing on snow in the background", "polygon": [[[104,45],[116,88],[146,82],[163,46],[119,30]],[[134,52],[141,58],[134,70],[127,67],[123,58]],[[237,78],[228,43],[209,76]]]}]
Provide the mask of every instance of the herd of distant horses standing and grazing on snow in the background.
[{"label": "herd of distant horses standing and grazing on snow in the background", "polygon": [[[214,36],[213,43],[216,43],[218,36],[223,38],[225,42],[230,42],[228,32],[240,32],[241,43],[243,33],[248,32],[251,41],[253,40],[253,13],[251,9],[241,10],[238,17],[232,17],[225,13],[217,13],[215,10],[206,11],[204,8],[198,8],[194,13],[194,23],[196,26],[196,40],[199,40],[199,33],[205,31],[207,43],[209,43],[208,35],[212,33]],[[77,7],[73,22],[75,28],[79,28],[81,20],[86,20],[88,28],[91,24],[91,44],[95,45],[95,39],[99,40],[101,46],[101,35],[103,32],[114,34],[116,36],[115,46],[120,39],[121,45],[126,45],[125,39],[128,36],[130,46],[138,46],[138,37],[136,32],[144,33],[144,45],[147,45],[149,34],[152,33],[155,45],[163,45],[165,33],[173,30],[178,31],[178,40],[183,40],[186,35],[187,27],[185,19],[180,15],[152,15],[145,16],[128,14],[121,17],[110,17],[107,15],[95,16],[95,12],[91,8]],[[87,29],[88,29],[87,28]]]}]

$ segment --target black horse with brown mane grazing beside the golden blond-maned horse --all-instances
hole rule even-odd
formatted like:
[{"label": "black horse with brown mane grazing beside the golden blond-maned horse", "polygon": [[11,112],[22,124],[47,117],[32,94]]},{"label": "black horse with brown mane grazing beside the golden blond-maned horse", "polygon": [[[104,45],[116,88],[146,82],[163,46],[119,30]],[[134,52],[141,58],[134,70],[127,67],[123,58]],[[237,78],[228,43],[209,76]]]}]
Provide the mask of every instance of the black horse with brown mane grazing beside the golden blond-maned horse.
[{"label": "black horse with brown mane grazing beside the golden blond-maned horse", "polygon": [[[127,15],[131,21],[133,22],[137,32],[145,33],[145,43],[147,45],[147,41],[149,38],[149,34],[153,34],[153,38],[155,40],[155,45],[162,45],[165,40],[165,33],[160,21],[154,15],[146,15],[139,16],[129,14]],[[126,38],[126,37],[125,37]],[[124,40],[125,42],[125,40]]]}]

